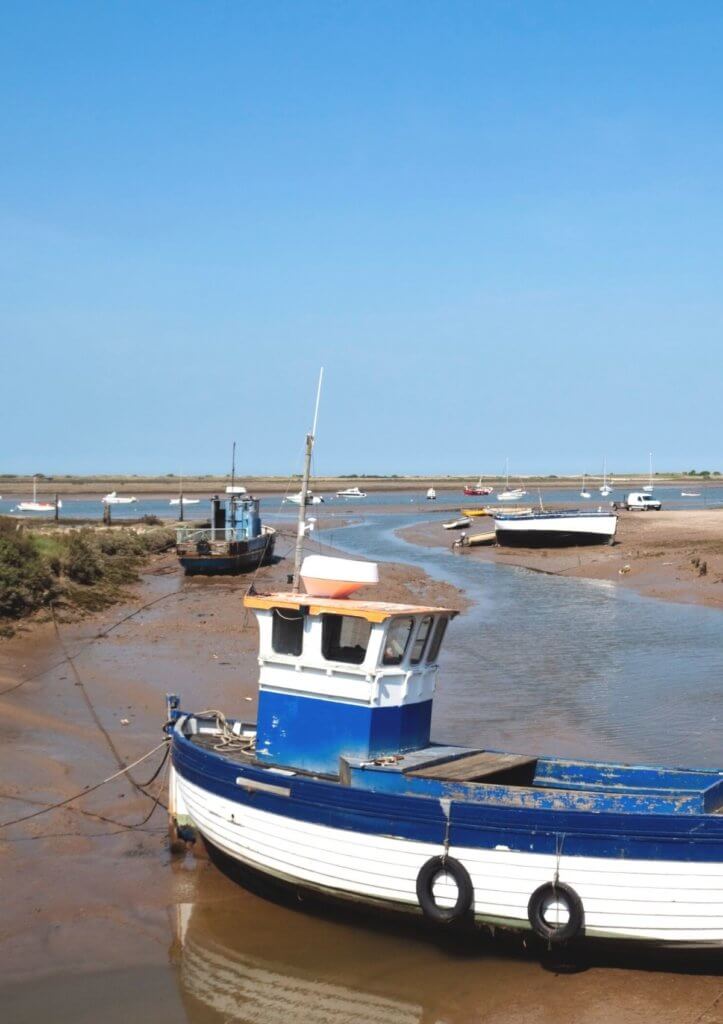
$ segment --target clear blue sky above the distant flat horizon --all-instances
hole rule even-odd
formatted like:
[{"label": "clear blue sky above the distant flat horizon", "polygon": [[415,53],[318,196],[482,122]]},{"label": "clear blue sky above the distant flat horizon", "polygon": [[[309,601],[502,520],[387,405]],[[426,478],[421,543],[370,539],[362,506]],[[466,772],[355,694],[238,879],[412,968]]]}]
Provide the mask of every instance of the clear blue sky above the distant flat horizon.
[{"label": "clear blue sky above the distant flat horizon", "polygon": [[723,470],[723,4],[6,0],[0,472]]}]

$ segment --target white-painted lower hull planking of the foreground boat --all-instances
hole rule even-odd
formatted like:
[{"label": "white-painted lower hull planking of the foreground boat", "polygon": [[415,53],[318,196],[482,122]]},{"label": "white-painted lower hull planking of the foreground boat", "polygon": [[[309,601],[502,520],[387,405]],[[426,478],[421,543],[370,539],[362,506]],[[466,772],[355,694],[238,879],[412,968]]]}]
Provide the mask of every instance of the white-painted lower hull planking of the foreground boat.
[{"label": "white-painted lower hull planking of the foreground boat", "polygon": [[[280,776],[283,782],[283,776]],[[355,900],[416,909],[417,874],[441,844],[330,828],[206,793],[171,769],[171,807],[187,814],[214,846],[233,859],[287,882]],[[723,943],[723,864],[570,857],[451,847],[469,871],[475,916],[528,929],[527,902],[541,885],[572,886],[585,907],[590,937],[650,942]],[[434,888],[452,905],[454,883]],[[562,920],[562,919],[561,919]]]}]

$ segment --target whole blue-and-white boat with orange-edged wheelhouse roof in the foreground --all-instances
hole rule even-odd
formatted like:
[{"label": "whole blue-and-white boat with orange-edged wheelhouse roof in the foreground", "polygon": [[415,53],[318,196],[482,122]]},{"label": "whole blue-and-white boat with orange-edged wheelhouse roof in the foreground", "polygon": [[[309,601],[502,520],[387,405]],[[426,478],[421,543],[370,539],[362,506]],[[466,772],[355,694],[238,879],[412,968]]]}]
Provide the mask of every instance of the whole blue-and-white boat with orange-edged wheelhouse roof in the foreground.
[{"label": "whole blue-and-white boat with orange-edged wheelhouse roof in the foreground", "polygon": [[338,561],[336,584],[316,558],[311,593],[246,597],[256,723],[169,697],[178,836],[296,891],[440,926],[723,944],[723,772],[432,741],[455,610],[324,596],[353,589],[355,563]]}]

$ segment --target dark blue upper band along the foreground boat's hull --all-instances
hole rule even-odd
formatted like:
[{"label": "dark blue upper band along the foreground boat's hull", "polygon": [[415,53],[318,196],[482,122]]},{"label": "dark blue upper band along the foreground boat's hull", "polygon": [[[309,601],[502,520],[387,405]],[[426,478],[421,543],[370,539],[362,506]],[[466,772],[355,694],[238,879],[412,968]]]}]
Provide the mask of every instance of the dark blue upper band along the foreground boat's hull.
[{"label": "dark blue upper band along the foreground boat's hull", "polygon": [[[247,793],[237,780],[268,782],[268,772],[239,764],[197,746],[174,733],[176,771],[195,785],[240,805],[250,804],[298,821],[388,835],[423,843],[443,843],[446,817],[436,795],[422,796],[417,782],[402,777],[406,793],[359,788],[338,781],[294,775],[288,796]],[[723,863],[723,817],[716,814],[586,812],[546,807],[500,806],[483,798],[452,800],[450,842],[471,849],[500,844],[518,852],[554,854],[564,837],[569,856]]]}]

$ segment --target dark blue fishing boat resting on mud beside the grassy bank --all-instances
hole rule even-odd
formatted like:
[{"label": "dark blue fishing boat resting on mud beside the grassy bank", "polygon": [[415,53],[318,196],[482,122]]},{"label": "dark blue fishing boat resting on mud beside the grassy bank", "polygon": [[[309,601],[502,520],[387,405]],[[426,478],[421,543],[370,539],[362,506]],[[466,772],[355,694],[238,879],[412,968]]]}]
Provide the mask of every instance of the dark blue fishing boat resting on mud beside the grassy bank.
[{"label": "dark blue fishing boat resting on mud beside the grassy bank", "polygon": [[215,495],[210,526],[179,526],[176,551],[187,575],[228,574],[269,562],[275,539],[275,530],[261,524],[257,498]]}]

